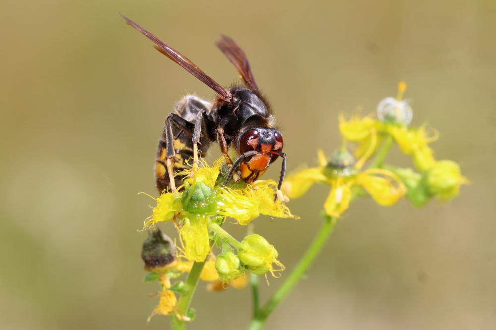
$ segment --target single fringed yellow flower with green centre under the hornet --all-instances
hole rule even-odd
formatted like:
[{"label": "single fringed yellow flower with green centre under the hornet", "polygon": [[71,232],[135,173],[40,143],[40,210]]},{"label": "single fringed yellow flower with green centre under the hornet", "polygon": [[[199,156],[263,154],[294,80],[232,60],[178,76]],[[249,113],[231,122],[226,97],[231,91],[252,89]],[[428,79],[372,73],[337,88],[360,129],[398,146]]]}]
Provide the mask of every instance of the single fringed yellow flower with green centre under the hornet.
[{"label": "single fringed yellow flower with green centre under the hornet", "polygon": [[[145,220],[145,227],[158,222],[174,220],[179,228],[182,250],[186,259],[205,260],[210,251],[208,223],[212,217],[229,217],[246,225],[260,215],[277,218],[298,217],[291,214],[280,199],[274,199],[277,184],[274,180],[257,180],[252,184],[224,187],[219,179],[221,164],[218,159],[212,167],[201,160],[202,166],[180,173],[184,184],[175,192],[164,192],[156,199],[152,216]],[[179,222],[178,222],[179,221]]]}]

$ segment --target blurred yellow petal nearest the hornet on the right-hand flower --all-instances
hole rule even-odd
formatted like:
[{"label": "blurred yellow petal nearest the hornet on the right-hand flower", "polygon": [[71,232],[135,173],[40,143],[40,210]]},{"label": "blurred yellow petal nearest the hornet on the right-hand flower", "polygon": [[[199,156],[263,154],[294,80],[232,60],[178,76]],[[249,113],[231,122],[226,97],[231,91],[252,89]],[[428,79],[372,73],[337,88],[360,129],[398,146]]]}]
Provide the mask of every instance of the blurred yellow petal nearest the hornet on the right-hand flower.
[{"label": "blurred yellow petal nearest the hornet on the right-hand flower", "polygon": [[327,177],[320,168],[310,167],[288,175],[281,189],[289,198],[298,198],[303,196],[315,182],[326,181]]}]

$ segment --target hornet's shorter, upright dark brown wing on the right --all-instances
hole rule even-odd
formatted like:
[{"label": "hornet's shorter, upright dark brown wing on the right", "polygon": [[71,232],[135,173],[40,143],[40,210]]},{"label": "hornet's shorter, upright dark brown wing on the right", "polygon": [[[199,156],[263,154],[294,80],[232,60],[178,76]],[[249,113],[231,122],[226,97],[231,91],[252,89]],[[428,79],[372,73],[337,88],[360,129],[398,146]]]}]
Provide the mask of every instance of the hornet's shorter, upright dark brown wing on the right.
[{"label": "hornet's shorter, upright dark brown wing on the right", "polygon": [[231,63],[236,66],[245,84],[257,91],[258,86],[256,85],[255,77],[253,77],[253,73],[249,67],[247,55],[241,47],[233,39],[225,35],[221,35],[221,40],[216,45],[229,58]]}]

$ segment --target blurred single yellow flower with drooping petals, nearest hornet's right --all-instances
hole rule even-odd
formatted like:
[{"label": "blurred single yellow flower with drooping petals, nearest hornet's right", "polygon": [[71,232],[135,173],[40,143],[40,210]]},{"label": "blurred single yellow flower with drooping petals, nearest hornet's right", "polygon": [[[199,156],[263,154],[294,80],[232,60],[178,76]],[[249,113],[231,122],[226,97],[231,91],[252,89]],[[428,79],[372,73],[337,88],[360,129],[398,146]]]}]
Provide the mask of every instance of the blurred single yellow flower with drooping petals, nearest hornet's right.
[{"label": "blurred single yellow flower with drooping petals, nearest hornet's right", "polygon": [[[373,148],[372,145],[371,149]],[[381,206],[395,204],[406,193],[406,188],[397,175],[385,169],[360,171],[365,159],[354,164],[350,161],[352,156],[345,149],[334,153],[327,164],[320,151],[319,155],[319,167],[307,168],[287,177],[282,189],[289,198],[300,197],[313,183],[328,184],[331,190],[324,203],[324,210],[330,217],[339,217],[348,209],[352,190],[356,186],[362,187]],[[364,157],[368,155],[370,151]],[[305,182],[303,188],[299,187],[300,182]]]}]

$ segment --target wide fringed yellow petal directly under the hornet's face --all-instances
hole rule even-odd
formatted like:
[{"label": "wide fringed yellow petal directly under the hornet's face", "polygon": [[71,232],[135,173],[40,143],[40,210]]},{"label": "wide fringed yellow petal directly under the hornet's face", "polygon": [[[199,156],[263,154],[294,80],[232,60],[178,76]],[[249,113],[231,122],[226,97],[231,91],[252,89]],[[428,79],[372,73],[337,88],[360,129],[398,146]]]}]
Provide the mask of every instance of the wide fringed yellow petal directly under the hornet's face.
[{"label": "wide fringed yellow petal directly under the hornet's face", "polygon": [[243,189],[220,187],[217,214],[230,217],[242,225],[260,214],[277,218],[297,218],[279,200],[274,201],[277,184],[274,180],[257,180]]}]

